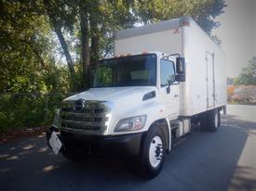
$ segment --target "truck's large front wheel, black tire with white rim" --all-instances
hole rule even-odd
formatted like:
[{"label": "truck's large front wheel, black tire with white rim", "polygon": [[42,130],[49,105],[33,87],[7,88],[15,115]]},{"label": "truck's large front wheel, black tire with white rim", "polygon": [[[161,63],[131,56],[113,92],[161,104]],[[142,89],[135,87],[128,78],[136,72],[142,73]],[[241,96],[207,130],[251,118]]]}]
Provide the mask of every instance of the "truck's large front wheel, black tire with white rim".
[{"label": "truck's large front wheel, black tire with white rim", "polygon": [[159,126],[155,125],[145,134],[137,168],[143,177],[154,178],[161,172],[165,157],[165,135]]}]

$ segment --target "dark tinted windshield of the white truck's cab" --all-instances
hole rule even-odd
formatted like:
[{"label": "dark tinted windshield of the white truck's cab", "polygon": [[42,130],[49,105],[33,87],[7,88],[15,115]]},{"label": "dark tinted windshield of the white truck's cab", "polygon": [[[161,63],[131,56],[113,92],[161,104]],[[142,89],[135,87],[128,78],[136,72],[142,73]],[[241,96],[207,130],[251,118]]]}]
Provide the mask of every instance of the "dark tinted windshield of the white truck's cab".
[{"label": "dark tinted windshield of the white truck's cab", "polygon": [[103,59],[97,65],[93,83],[93,87],[155,85],[155,54]]}]

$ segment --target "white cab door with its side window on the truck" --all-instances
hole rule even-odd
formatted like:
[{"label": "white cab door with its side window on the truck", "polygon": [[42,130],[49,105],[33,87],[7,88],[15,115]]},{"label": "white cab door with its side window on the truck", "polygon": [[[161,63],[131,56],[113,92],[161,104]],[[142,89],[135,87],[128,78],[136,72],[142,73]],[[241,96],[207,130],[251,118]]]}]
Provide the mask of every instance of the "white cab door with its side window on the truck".
[{"label": "white cab door with its side window on the truck", "polygon": [[180,90],[175,83],[174,62],[160,59],[160,100],[167,109],[168,118],[177,118],[180,111]]}]

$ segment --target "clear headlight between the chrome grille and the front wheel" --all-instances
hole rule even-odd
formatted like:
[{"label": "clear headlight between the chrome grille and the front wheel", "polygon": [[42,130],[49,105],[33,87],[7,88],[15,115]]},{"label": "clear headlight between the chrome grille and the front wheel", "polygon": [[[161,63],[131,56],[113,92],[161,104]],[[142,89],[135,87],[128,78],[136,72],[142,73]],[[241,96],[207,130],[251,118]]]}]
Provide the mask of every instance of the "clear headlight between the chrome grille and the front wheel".
[{"label": "clear headlight between the chrome grille and the front wheel", "polygon": [[141,130],[146,122],[146,115],[118,121],[114,132],[131,132]]}]

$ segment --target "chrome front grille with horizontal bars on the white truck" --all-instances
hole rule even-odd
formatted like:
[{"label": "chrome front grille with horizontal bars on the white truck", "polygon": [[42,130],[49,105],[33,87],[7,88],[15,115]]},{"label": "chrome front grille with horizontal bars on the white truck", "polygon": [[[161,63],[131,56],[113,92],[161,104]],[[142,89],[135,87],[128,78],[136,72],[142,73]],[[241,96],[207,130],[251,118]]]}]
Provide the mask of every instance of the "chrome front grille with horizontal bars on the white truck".
[{"label": "chrome front grille with horizontal bars on the white truck", "polygon": [[110,109],[99,101],[63,102],[61,108],[61,128],[101,134],[106,129],[106,116]]}]

